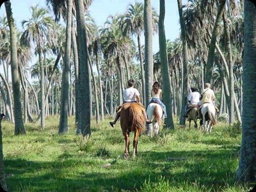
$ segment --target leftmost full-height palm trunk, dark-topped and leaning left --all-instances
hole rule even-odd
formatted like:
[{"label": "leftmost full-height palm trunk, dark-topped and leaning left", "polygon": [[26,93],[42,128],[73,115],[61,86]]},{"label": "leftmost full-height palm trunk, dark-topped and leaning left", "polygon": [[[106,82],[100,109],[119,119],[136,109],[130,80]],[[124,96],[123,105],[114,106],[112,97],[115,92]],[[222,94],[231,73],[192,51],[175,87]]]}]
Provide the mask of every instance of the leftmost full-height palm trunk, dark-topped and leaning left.
[{"label": "leftmost full-height palm trunk, dark-topped and leaning left", "polygon": [[26,134],[23,120],[20,100],[20,78],[17,61],[17,35],[12,16],[12,7],[10,1],[4,2],[8,24],[10,28],[10,42],[11,42],[11,70],[12,70],[12,88],[14,100],[14,116],[15,116],[15,134]]}]

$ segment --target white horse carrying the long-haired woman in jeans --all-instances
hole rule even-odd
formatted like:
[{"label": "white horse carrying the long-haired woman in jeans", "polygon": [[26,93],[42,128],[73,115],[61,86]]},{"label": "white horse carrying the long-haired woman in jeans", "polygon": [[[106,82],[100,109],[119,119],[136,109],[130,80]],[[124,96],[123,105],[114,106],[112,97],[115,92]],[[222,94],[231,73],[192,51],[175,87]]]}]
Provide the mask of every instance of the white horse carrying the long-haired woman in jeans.
[{"label": "white horse carrying the long-haired woman in jeans", "polygon": [[150,137],[157,135],[159,126],[162,124],[163,108],[157,103],[150,103],[147,107],[148,119],[153,123],[148,124],[148,134]]}]

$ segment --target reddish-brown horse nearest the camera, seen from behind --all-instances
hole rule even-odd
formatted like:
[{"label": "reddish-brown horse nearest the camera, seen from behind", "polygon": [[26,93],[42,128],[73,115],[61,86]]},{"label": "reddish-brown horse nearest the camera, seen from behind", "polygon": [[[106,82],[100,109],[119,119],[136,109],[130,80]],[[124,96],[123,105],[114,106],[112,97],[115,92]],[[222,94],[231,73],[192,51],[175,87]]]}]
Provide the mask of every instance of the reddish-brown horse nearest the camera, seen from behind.
[{"label": "reddish-brown horse nearest the camera, seen from behind", "polygon": [[136,157],[136,154],[138,153],[138,138],[140,134],[144,132],[146,129],[145,116],[143,115],[143,110],[145,109],[139,104],[127,103],[124,104],[123,108],[120,111],[120,125],[125,138],[125,159],[129,157],[129,134],[132,131],[134,132],[132,157]]}]

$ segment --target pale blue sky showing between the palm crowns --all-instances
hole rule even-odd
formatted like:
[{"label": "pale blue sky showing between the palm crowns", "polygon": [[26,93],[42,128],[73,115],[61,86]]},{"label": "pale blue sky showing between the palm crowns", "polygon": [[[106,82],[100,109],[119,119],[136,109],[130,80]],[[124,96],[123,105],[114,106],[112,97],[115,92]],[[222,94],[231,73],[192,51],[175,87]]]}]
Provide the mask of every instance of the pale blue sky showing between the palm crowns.
[{"label": "pale blue sky showing between the palm crowns", "polygon": [[[183,0],[184,1],[184,0]],[[104,26],[104,22],[109,15],[123,14],[127,9],[129,4],[134,4],[135,2],[143,3],[144,0],[93,0],[92,5],[89,7],[89,12],[92,18],[95,20],[97,26]],[[13,17],[17,28],[22,30],[21,21],[28,20],[31,17],[30,6],[39,6],[46,7],[45,0],[11,0]],[[159,14],[159,0],[152,0],[152,7]],[[165,33],[167,40],[175,40],[178,38],[180,33],[179,25],[179,11],[177,6],[177,0],[166,0],[165,2]],[[0,17],[6,15],[4,4],[1,4],[0,8]],[[143,43],[143,39],[141,40]],[[144,43],[143,43],[144,44]],[[159,41],[158,36],[153,36],[153,52],[156,53],[159,51]],[[32,60],[34,62],[35,60]],[[1,71],[1,69],[0,69]]]}]

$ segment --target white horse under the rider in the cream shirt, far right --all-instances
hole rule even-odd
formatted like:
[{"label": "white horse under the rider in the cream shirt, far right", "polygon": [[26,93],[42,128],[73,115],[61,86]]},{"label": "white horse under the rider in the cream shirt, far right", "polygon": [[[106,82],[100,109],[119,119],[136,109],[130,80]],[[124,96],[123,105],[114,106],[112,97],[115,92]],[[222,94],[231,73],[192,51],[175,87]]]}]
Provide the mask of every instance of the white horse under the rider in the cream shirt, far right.
[{"label": "white horse under the rider in the cream shirt, far right", "polygon": [[211,133],[212,126],[216,124],[216,109],[213,104],[204,103],[202,105],[201,112],[203,116],[202,128],[204,129],[205,132]]}]

